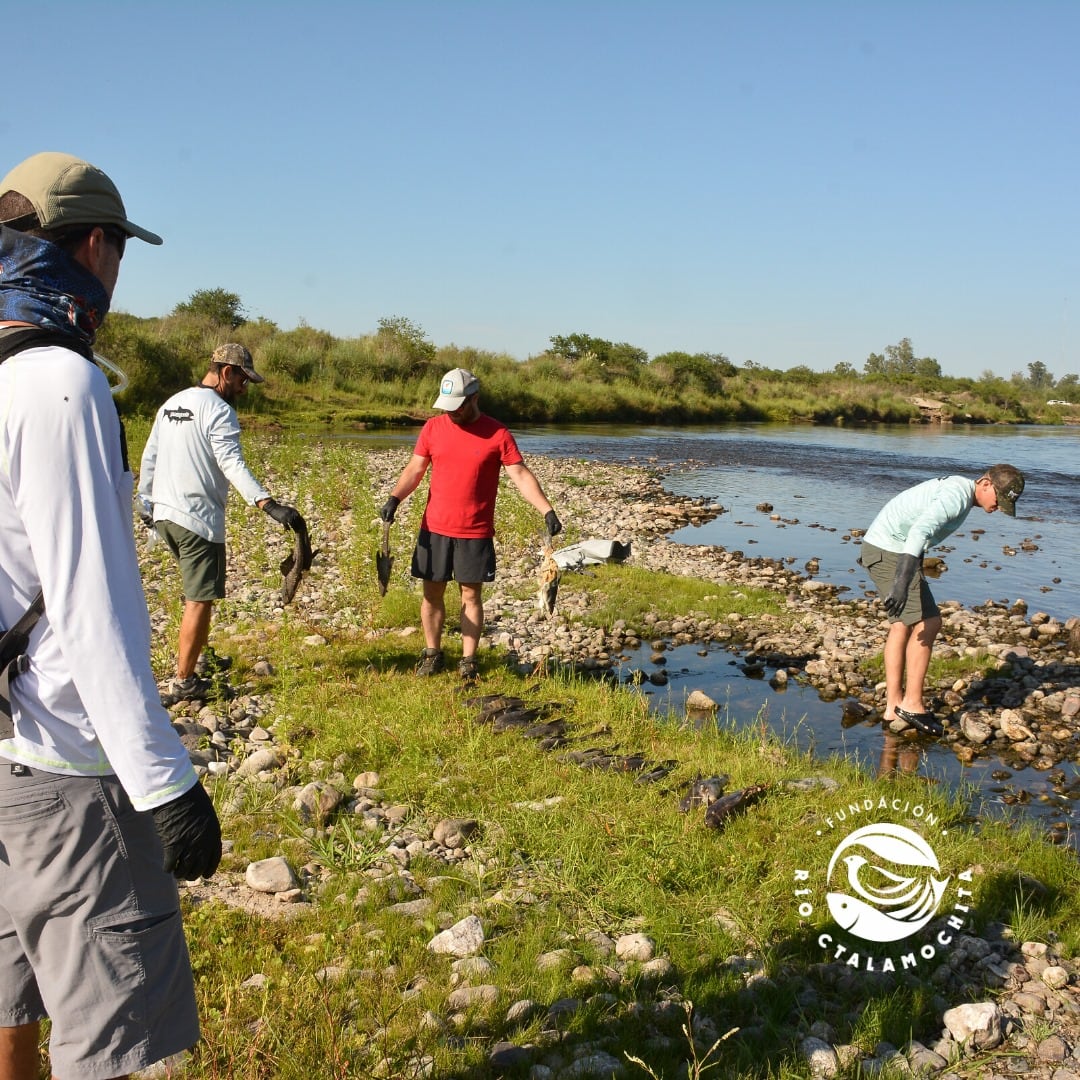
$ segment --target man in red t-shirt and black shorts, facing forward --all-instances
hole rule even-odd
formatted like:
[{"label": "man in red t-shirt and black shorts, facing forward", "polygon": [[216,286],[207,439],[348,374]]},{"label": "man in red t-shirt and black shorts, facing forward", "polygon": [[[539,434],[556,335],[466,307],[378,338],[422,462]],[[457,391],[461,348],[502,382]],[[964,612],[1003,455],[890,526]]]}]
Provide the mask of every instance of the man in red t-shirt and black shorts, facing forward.
[{"label": "man in red t-shirt and black shorts, facing forward", "polygon": [[413,457],[394,484],[379,516],[392,522],[403,499],[416,490],[431,465],[428,505],[413,552],[413,577],[423,581],[420,622],[426,648],[418,675],[443,670],[443,624],[446,621],[446,583],[461,590],[461,664],[463,679],[475,681],[476,647],[484,629],[483,583],[495,580],[495,500],[499,470],[530,505],[544,515],[549,536],[562,524],[522,459],[505,424],[480,410],[480,380],[472,372],[455,367],[443,376],[432,417],[421,429]]}]

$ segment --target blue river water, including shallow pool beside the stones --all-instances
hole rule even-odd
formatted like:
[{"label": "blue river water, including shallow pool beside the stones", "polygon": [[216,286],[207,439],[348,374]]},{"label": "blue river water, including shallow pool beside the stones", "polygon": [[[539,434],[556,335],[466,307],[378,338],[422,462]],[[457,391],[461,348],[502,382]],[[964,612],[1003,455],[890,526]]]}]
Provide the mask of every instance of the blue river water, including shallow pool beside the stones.
[{"label": "blue river water, including shallow pool beside the stones", "polygon": [[[972,510],[963,527],[932,552],[946,566],[931,582],[934,596],[969,608],[1022,598],[1029,612],[1063,621],[1080,615],[1080,427],[604,426],[515,428],[514,433],[526,460],[542,455],[662,468],[673,494],[724,507],[713,522],[673,534],[676,542],[784,559],[800,571],[815,559],[815,577],[855,595],[872,585],[855,562],[859,545],[851,529],[865,529],[888,499],[920,481],[954,473],[975,477],[987,465],[1009,462],[1027,482],[1017,516]],[[762,503],[771,513],[757,509]],[[647,647],[632,663],[647,667]],[[963,766],[945,743],[897,745],[880,725],[845,728],[840,702],[822,701],[811,687],[777,690],[750,678],[740,657],[716,645],[670,650],[666,671],[666,687],[645,691],[658,712],[679,712],[686,696],[700,689],[721,704],[724,723],[764,721],[821,757],[842,755],[874,771],[899,769],[951,787],[968,785],[974,812],[1018,813],[1048,826],[1064,822],[1067,841],[1078,846],[1075,760],[1062,766],[1064,784],[1056,787],[1051,774],[1032,769],[994,777],[1003,766],[990,756]],[[1017,793],[1030,801],[1016,804]]]}]

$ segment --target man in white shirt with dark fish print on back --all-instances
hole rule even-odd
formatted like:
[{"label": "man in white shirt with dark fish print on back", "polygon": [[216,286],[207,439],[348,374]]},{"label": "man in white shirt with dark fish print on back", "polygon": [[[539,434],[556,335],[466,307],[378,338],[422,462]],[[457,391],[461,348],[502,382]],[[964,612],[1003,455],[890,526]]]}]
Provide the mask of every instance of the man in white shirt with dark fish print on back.
[{"label": "man in white shirt with dark fish print on back", "polygon": [[139,468],[139,502],[180,566],[184,616],[170,701],[198,697],[207,686],[195,664],[210,638],[214,600],[225,596],[225,503],[231,484],[248,505],[299,531],[303,518],[270,498],[252,475],[240,446],[234,403],[248,382],[261,382],[242,345],[214,350],[198,386],[158,409]]}]

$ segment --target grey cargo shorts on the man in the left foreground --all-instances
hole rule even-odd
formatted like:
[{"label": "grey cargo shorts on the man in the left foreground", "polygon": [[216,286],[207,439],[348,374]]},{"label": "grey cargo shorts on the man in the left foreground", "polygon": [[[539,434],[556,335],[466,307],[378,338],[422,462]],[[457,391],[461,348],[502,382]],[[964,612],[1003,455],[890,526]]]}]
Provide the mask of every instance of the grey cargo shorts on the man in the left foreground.
[{"label": "grey cargo shorts on the man in the left foreground", "polygon": [[0,758],[0,1027],[49,1016],[54,1076],[104,1080],[199,1041],[176,881],[116,777]]}]

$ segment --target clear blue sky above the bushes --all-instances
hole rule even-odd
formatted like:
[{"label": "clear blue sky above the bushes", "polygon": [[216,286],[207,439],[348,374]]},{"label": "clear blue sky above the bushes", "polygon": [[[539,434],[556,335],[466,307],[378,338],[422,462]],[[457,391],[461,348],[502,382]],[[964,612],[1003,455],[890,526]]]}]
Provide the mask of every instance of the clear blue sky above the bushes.
[{"label": "clear blue sky above the bushes", "polygon": [[[200,288],[341,337],[404,315],[524,360],[1080,370],[1074,0],[50,2],[9,42],[4,168],[64,150]],[[25,43],[24,43],[25,42]],[[98,48],[98,44],[100,48]]]}]

